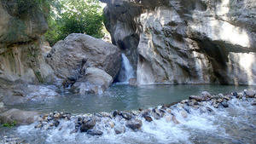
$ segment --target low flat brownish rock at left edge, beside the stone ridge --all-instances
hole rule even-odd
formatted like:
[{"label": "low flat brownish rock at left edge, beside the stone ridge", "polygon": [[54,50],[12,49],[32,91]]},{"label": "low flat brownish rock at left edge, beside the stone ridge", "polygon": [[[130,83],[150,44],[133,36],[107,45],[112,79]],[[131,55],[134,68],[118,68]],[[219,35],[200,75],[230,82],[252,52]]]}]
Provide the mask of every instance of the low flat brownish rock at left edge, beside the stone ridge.
[{"label": "low flat brownish rock at left edge, beside the stone ridge", "polygon": [[13,108],[0,114],[0,123],[32,124],[39,118],[39,115],[39,112],[21,111]]}]

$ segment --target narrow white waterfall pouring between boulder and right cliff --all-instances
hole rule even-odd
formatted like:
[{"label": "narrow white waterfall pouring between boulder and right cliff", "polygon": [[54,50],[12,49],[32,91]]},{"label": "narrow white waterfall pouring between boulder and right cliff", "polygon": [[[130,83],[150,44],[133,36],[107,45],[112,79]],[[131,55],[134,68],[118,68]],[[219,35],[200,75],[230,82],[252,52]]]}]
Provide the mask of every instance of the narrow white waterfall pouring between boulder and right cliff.
[{"label": "narrow white waterfall pouring between boulder and right cliff", "polygon": [[121,70],[119,72],[118,80],[121,83],[128,84],[129,79],[131,79],[131,78],[135,78],[134,77],[134,70],[133,70],[133,68],[131,66],[131,63],[128,60],[128,58],[125,56],[125,54],[122,54],[122,67],[121,67]]}]

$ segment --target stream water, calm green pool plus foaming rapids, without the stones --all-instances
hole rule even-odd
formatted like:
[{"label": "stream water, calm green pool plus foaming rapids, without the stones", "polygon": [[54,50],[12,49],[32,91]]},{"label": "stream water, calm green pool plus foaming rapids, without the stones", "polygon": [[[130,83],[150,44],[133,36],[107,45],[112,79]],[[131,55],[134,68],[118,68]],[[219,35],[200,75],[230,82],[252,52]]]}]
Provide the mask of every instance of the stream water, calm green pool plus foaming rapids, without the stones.
[{"label": "stream water, calm green pool plus foaming rapids, without the stones", "polygon": [[[243,89],[255,89],[248,86],[224,85],[148,85],[132,87],[114,84],[104,95],[71,95],[64,92],[61,97],[51,101],[32,101],[12,107],[22,110],[41,112],[64,111],[74,115],[92,112],[113,112],[113,110],[137,110],[138,108],[158,107],[161,104],[188,99],[189,95],[199,95],[207,90],[211,94],[230,94]],[[168,120],[171,114],[152,122],[142,120],[143,126],[137,132],[126,129],[117,135],[106,126],[109,118],[102,118],[96,128],[103,135],[92,136],[86,133],[72,133],[76,118],[61,120],[56,129],[38,130],[35,124],[15,128],[0,128],[3,139],[18,139],[23,143],[255,143],[256,142],[256,107],[254,98],[232,99],[229,107],[212,107],[209,101],[202,102],[201,107],[185,109],[186,117],[181,114],[184,107],[180,103],[173,105],[172,115],[179,124]],[[9,106],[10,107],[10,106]],[[211,112],[208,112],[208,109]],[[169,116],[170,115],[170,116]],[[115,126],[125,124],[124,119],[113,118]],[[8,135],[8,136],[6,136]],[[4,137],[5,136],[5,137]],[[1,143],[1,142],[0,142]]]}]

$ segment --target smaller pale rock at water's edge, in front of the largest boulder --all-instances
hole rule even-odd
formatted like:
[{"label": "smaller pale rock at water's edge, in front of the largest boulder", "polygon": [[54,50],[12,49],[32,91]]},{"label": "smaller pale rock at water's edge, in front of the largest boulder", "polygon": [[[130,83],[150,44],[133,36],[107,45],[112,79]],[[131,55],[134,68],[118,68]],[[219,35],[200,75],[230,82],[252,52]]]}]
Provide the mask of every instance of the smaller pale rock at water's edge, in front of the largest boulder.
[{"label": "smaller pale rock at water's edge, in front of the largest boulder", "polygon": [[72,89],[81,95],[85,93],[102,95],[112,83],[113,78],[107,72],[96,67],[88,67],[85,75],[73,84]]}]

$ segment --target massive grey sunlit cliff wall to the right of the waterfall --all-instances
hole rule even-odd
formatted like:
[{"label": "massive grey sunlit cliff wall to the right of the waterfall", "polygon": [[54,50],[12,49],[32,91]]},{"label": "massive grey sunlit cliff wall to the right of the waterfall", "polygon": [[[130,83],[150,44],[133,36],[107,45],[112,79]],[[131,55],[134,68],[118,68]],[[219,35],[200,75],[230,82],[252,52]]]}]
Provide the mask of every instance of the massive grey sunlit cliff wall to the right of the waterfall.
[{"label": "massive grey sunlit cliff wall to the right of the waterfall", "polygon": [[138,84],[256,84],[254,0],[102,2]]}]

